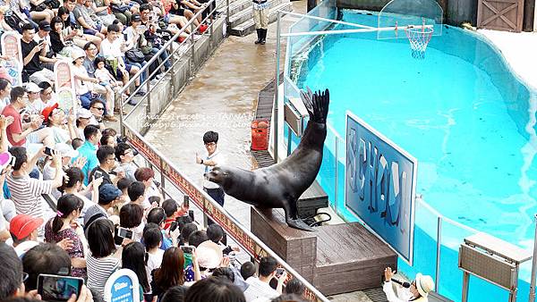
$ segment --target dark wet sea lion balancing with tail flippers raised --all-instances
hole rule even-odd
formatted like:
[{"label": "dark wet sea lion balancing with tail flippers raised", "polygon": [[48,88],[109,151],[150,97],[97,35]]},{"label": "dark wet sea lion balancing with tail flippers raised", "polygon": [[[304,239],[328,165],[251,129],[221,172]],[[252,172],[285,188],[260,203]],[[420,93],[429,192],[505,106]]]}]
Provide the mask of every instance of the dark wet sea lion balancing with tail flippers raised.
[{"label": "dark wet sea lion balancing with tail flippers raised", "polygon": [[206,177],[216,182],[227,195],[253,206],[283,208],[286,222],[295,229],[313,231],[297,216],[296,201],[310,188],[322,162],[322,149],[327,137],[328,89],[324,93],[301,92],[303,103],[310,114],[303,138],[283,162],[254,171],[221,166]]}]

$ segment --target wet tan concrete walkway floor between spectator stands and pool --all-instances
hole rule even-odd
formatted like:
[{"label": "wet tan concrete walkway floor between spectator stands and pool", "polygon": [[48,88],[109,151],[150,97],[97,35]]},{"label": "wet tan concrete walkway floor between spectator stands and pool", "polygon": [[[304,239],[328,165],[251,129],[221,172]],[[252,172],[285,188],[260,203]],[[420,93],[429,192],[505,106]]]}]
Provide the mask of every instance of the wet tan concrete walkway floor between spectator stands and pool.
[{"label": "wet tan concrete walkway floor between spectator stands and pool", "polygon": [[[293,8],[295,13],[305,13],[306,2],[293,2]],[[295,17],[284,17],[282,28],[288,29],[296,20]],[[255,33],[227,38],[167,108],[164,113],[166,122],[158,123],[146,135],[151,144],[198,183],[202,180],[203,167],[195,164],[195,154],[206,154],[202,136],[207,130],[219,133],[218,147],[226,156],[226,164],[248,170],[253,168],[250,123],[260,89],[274,78],[276,23],[268,28],[265,46],[254,45],[256,38]],[[285,49],[284,39],[282,49]],[[281,60],[283,70],[283,55]],[[224,207],[250,228],[250,206],[226,197]],[[331,299],[340,302],[371,301],[362,292]]]}]

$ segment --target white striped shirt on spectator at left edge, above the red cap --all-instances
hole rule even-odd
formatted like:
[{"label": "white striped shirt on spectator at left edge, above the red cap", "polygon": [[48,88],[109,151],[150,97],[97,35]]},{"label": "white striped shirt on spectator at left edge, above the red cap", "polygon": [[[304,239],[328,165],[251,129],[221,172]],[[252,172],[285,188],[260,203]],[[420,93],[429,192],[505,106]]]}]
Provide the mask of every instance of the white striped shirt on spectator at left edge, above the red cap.
[{"label": "white striped shirt on spectator at left edge, above the red cap", "polygon": [[7,177],[7,187],[12,194],[13,204],[17,214],[28,214],[32,217],[43,217],[43,205],[46,202],[41,194],[52,193],[52,180],[36,180],[30,176]]}]

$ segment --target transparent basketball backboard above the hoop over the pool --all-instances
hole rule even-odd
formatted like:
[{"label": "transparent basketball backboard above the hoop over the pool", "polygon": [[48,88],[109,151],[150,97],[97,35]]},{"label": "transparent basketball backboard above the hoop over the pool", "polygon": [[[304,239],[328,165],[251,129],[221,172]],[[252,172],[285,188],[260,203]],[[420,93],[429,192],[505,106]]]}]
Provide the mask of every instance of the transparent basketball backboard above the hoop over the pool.
[{"label": "transparent basketball backboard above the hoop over the pool", "polygon": [[435,0],[392,0],[379,12],[379,28],[397,27],[397,30],[379,30],[377,38],[407,38],[405,27],[432,27],[432,36],[442,35],[444,11]]}]

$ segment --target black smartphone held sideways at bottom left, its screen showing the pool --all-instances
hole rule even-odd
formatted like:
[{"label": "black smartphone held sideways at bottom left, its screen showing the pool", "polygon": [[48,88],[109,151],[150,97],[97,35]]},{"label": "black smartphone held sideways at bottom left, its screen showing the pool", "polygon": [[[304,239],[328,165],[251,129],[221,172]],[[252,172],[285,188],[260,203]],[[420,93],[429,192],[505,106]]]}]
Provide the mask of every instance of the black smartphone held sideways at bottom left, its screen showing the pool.
[{"label": "black smartphone held sideways at bottom left, its screen showing the pool", "polygon": [[79,296],[82,284],[81,278],[41,273],[38,275],[38,294],[44,301],[67,301],[72,294]]}]

